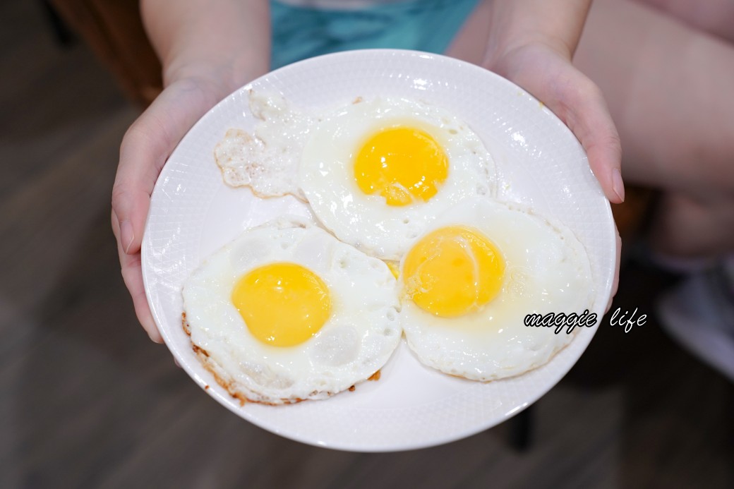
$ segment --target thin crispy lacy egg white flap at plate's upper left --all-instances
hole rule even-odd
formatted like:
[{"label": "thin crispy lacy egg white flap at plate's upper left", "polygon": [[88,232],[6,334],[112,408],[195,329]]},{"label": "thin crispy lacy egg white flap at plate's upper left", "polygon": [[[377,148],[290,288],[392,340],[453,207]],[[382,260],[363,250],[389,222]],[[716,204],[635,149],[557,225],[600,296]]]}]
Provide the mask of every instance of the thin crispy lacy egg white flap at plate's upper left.
[{"label": "thin crispy lacy egg white flap at plate's upper left", "polygon": [[250,186],[260,197],[291,194],[305,200],[297,182],[298,164],[316,117],[288,104],[282,95],[250,91],[250,132],[230,128],[214,148],[225,184]]}]

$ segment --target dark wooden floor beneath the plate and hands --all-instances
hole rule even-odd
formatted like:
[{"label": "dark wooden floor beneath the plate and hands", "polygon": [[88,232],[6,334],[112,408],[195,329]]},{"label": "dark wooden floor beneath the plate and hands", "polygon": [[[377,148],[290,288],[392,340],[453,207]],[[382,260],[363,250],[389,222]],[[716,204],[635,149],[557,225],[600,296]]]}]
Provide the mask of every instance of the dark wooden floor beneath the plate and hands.
[{"label": "dark wooden floor beneath the plate and hands", "polygon": [[[0,5],[0,488],[732,488],[734,388],[655,319],[600,325],[512,423],[446,446],[355,454],[234,416],[137,325],[109,194],[136,110],[37,2]],[[653,315],[669,278],[632,264],[614,308]]]}]

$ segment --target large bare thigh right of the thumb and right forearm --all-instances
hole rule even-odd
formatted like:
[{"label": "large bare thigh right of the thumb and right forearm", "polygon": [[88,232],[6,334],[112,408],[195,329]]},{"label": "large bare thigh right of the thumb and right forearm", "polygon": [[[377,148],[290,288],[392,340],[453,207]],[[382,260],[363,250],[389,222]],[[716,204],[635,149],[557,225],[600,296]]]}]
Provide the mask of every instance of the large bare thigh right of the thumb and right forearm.
[{"label": "large bare thigh right of the thumb and right forearm", "polygon": [[734,192],[734,48],[633,1],[597,0],[575,64],[602,89],[625,180]]}]

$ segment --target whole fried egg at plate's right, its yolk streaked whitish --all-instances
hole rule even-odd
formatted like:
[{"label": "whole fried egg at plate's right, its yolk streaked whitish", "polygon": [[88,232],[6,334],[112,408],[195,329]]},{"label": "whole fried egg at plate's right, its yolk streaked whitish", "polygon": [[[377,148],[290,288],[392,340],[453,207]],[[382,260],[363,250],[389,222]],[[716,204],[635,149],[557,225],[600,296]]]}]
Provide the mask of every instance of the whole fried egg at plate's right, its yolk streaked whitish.
[{"label": "whole fried egg at plate's right, its yolk streaked whitish", "polygon": [[593,285],[573,233],[515,203],[468,200],[416,239],[400,263],[404,334],[447,374],[495,380],[547,363],[572,334],[527,314],[583,314]]}]

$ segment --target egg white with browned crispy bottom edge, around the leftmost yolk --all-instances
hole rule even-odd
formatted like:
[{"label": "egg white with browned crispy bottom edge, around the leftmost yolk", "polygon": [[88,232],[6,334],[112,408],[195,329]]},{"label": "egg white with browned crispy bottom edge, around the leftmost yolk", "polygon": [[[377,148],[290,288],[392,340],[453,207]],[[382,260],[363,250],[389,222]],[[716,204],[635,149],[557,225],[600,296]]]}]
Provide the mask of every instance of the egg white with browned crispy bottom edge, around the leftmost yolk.
[{"label": "egg white with browned crispy bottom edge, around the leftmost yolk", "polygon": [[[332,300],[326,324],[294,347],[252,336],[230,300],[242,275],[283,261],[319,275]],[[243,401],[283,404],[344,391],[377,372],[401,338],[396,280],[385,263],[303,222],[245,231],[192,273],[183,303],[194,349]]]}]

